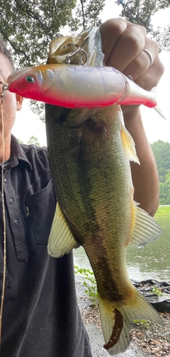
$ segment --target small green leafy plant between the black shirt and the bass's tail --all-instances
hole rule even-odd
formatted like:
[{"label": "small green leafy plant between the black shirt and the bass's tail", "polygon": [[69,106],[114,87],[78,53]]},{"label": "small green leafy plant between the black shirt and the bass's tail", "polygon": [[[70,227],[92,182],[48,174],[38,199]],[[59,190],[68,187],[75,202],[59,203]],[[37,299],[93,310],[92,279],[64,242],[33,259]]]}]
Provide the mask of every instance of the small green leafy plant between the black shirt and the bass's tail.
[{"label": "small green leafy plant between the black shirt and the bass's tail", "polygon": [[98,294],[96,279],[94,278],[94,272],[89,269],[79,268],[78,266],[74,266],[74,271],[76,274],[81,276],[81,279],[83,280],[83,284],[86,288],[85,293],[89,295],[91,306],[96,307],[96,305],[98,305]]}]

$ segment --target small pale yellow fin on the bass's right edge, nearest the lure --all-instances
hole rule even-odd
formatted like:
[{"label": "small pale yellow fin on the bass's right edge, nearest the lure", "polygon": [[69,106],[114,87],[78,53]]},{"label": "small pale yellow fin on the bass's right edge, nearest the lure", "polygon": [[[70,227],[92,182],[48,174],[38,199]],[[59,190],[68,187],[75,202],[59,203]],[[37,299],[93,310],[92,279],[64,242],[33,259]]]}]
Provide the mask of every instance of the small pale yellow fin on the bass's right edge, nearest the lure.
[{"label": "small pale yellow fin on the bass's right edge, nearest the lure", "polygon": [[130,135],[130,132],[122,125],[121,127],[121,140],[123,144],[123,149],[125,150],[125,154],[128,160],[137,162],[140,165],[140,160],[137,157],[135,142]]}]

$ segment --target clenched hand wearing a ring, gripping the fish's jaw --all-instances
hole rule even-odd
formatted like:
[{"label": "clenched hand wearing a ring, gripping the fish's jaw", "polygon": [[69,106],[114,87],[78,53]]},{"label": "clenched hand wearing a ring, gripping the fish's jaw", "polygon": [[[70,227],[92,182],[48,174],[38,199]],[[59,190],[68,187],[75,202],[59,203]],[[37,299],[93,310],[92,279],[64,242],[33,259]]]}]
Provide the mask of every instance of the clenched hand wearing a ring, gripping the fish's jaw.
[{"label": "clenched hand wearing a ring, gripping the fish's jaw", "polygon": [[[164,66],[159,60],[157,42],[147,37],[143,26],[124,18],[113,18],[103,23],[100,30],[107,66],[130,75],[133,81],[148,91],[157,86]],[[152,54],[151,66],[149,56],[142,51],[144,48]]]}]

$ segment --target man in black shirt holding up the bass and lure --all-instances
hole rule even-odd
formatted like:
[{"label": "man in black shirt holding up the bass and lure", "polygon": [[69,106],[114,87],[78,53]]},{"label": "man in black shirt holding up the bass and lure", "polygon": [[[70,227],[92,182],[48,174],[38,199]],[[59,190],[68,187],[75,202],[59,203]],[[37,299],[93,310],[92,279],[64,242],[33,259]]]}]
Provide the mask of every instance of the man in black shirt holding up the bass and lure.
[{"label": "man in black shirt holding up the bass and lure", "polygon": [[[115,18],[103,23],[100,30],[106,65],[131,76],[147,90],[157,85],[164,67],[159,60],[157,43],[147,37],[145,28]],[[1,39],[1,83],[6,83],[12,71],[10,52]],[[6,91],[3,104],[6,283],[1,357],[92,357],[77,305],[73,255],[55,259],[47,254],[56,205],[47,149],[19,144],[11,135],[16,111],[21,110],[21,106],[21,96]],[[159,179],[140,107],[124,106],[122,109],[125,126],[135,140],[140,159],[140,166],[131,164],[135,200],[154,215],[159,201]],[[0,130],[2,132],[1,120]],[[2,162],[2,135],[0,155]],[[0,220],[2,286],[2,210]]]}]

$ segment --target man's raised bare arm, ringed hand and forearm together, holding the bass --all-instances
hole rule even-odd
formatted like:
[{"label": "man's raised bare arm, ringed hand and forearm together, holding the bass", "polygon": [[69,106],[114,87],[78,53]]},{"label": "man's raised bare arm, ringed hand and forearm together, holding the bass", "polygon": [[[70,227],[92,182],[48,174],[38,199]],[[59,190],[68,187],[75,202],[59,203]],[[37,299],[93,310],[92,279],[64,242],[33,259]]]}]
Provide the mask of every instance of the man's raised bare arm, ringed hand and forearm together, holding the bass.
[{"label": "man's raised bare arm, ringed hand and forearm together, holding the bass", "polygon": [[[123,18],[106,21],[101,26],[103,52],[106,65],[115,67],[142,88],[150,90],[157,86],[164,67],[159,60],[157,43],[147,38],[144,27],[134,25]],[[147,48],[149,56],[142,52]],[[135,188],[134,199],[150,215],[154,215],[159,205],[159,177],[152,149],[142,125],[140,107],[122,106],[125,127],[135,141],[140,165],[131,162],[132,181]]]}]

